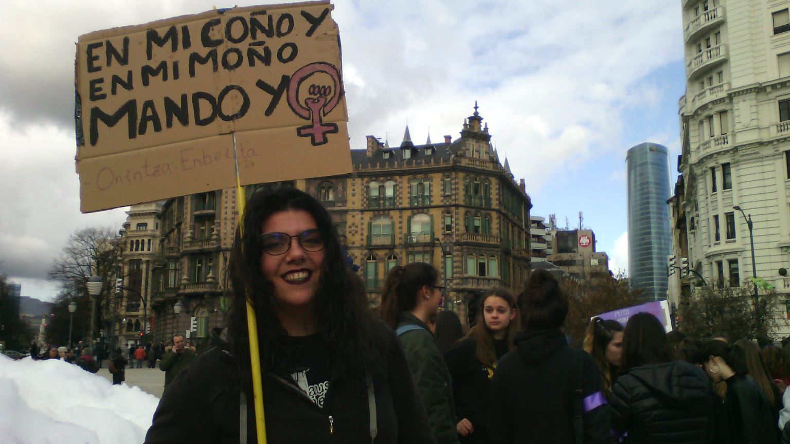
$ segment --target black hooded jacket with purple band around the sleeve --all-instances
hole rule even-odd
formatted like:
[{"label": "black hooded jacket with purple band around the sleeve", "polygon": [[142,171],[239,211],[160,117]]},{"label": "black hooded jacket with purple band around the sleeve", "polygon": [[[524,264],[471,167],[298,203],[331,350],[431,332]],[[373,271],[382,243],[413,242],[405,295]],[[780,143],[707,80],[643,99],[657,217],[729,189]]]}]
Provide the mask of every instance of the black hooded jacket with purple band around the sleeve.
[{"label": "black hooded jacket with purple band around the sleeve", "polygon": [[[574,389],[603,401],[595,361],[568,347],[557,329],[528,330],[513,342],[517,349],[502,356],[491,380],[488,442],[573,444]],[[584,442],[614,442],[608,404],[592,402],[582,418]]]}]

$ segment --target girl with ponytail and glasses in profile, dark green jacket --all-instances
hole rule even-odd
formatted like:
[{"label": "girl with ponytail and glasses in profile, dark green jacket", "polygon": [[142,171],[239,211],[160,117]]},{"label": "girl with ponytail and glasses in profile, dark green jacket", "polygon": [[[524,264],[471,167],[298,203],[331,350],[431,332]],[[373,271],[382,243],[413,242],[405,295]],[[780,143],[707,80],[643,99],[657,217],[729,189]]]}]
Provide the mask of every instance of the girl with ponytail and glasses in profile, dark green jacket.
[{"label": "girl with ponytail and glasses in profile, dark green jacket", "polygon": [[401,339],[436,442],[457,443],[450,371],[427,325],[442,303],[438,274],[424,262],[395,266],[387,275],[379,311]]}]

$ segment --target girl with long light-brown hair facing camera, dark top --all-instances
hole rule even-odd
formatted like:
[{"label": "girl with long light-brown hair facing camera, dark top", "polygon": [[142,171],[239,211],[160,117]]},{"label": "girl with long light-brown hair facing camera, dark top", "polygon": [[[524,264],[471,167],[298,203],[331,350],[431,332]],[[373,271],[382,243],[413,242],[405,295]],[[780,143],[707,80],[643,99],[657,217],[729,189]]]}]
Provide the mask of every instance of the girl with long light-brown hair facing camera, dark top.
[{"label": "girl with long light-brown hair facing camera, dark top", "polygon": [[487,443],[488,396],[499,358],[513,348],[518,331],[516,299],[491,288],[480,299],[475,325],[445,354],[453,378],[456,431],[461,443]]}]

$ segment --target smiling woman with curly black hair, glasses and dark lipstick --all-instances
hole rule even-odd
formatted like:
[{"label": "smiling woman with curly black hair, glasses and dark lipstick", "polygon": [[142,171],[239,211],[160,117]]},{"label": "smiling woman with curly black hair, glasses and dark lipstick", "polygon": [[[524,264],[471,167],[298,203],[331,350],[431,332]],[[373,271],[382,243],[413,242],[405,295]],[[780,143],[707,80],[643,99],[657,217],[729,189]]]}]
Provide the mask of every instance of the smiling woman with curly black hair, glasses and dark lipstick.
[{"label": "smiling woman with curly black hair, glasses and dark lipstick", "polygon": [[145,442],[255,442],[246,298],[269,443],[432,442],[403,349],[367,309],[320,202],[291,187],[254,194],[228,274],[226,335],[167,387]]}]

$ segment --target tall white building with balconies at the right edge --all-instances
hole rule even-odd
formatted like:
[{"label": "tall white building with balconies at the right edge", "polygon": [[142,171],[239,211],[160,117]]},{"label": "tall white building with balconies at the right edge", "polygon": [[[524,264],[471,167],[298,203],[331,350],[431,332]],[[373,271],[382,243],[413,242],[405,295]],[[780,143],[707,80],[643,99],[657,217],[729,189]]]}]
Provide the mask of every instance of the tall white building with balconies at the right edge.
[{"label": "tall white building with balconies at the right edge", "polygon": [[[778,270],[790,268],[790,2],[681,6],[686,94],[672,205],[685,239],[674,244],[709,283],[751,285],[754,274],[788,295]],[[672,296],[691,295],[696,282],[679,280]]]}]

